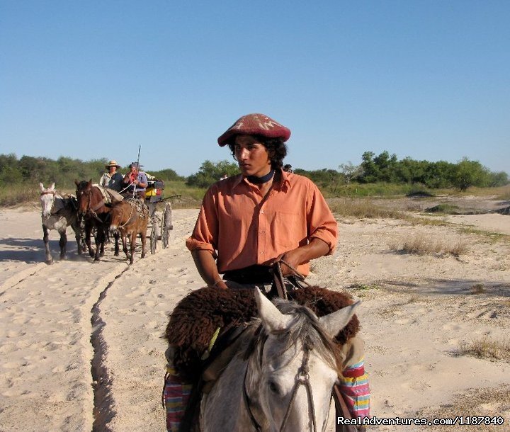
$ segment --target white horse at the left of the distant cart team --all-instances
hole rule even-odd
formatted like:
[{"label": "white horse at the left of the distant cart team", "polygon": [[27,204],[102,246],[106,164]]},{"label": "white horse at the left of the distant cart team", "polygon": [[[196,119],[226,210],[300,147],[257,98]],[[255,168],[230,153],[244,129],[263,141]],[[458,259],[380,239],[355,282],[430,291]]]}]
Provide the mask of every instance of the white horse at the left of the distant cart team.
[{"label": "white horse at the left of the distant cart team", "polygon": [[50,251],[48,230],[56,229],[60,233],[60,259],[65,259],[67,246],[67,227],[72,227],[77,241],[77,251],[81,254],[84,242],[81,236],[81,227],[78,217],[78,202],[74,195],[63,197],[55,191],[55,183],[50,188],[40,187],[40,203],[42,207],[42,239],[45,242],[46,263],[52,264],[53,258]]}]

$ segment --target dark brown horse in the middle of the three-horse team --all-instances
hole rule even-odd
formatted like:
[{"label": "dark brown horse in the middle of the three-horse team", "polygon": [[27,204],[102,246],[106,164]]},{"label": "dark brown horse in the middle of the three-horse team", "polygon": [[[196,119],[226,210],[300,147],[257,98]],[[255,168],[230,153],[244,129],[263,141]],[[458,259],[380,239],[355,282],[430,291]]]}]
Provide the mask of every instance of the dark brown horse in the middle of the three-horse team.
[{"label": "dark brown horse in the middle of the three-horse team", "polygon": [[[94,261],[99,261],[99,257],[104,255],[104,244],[110,227],[111,205],[105,203],[103,193],[97,186],[92,186],[90,181],[77,181],[77,199],[78,210],[84,215],[85,222],[85,243],[89,248],[89,255],[94,256]],[[91,247],[91,232],[96,228],[96,251]],[[115,256],[119,255],[118,234],[115,237]]]}]

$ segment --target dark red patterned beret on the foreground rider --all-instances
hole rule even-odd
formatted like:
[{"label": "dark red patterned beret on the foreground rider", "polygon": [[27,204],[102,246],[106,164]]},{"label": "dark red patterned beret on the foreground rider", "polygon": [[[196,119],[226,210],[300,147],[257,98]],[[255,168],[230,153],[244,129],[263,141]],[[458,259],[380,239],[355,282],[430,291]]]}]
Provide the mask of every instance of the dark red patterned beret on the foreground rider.
[{"label": "dark red patterned beret on the foreground rider", "polygon": [[218,138],[218,144],[223,147],[236,135],[262,135],[268,138],[281,138],[285,142],[290,137],[290,129],[267,115],[247,114],[239,118]]}]

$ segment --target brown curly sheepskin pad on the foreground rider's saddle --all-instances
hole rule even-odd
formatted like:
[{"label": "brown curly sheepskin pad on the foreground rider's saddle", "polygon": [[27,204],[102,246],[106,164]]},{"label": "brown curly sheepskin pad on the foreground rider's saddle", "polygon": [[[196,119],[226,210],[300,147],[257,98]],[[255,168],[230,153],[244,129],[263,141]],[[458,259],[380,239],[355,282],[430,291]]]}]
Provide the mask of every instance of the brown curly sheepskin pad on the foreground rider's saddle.
[{"label": "brown curly sheepskin pad on the foreground rider's saddle", "polygon": [[[312,309],[317,317],[353,304],[350,295],[309,286],[288,292],[289,300]],[[257,317],[254,290],[200,288],[183,298],[169,315],[164,339],[174,348],[174,368],[182,377],[196,377],[203,370],[203,354],[218,328],[232,330]],[[335,336],[343,345],[360,329],[358,317]]]}]

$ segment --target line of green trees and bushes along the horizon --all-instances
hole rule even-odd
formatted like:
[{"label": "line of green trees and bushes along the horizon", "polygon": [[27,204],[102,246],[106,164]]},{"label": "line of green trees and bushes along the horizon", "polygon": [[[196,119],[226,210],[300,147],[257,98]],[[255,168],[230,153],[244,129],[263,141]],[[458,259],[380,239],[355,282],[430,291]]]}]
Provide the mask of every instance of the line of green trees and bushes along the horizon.
[{"label": "line of green trees and bushes along the horizon", "polygon": [[[387,151],[377,156],[374,152],[364,152],[361,164],[351,162],[339,165],[338,169],[305,170],[297,168],[296,174],[307,176],[320,188],[335,191],[351,183],[390,183],[424,186],[426,188],[456,188],[465,191],[470,186],[492,187],[509,183],[506,172],[493,172],[482,166],[479,161],[466,157],[458,163],[447,161],[416,161],[409,157],[397,159],[395,154]],[[81,161],[69,157],[57,160],[45,157],[23,156],[18,159],[15,154],[0,154],[0,186],[30,183],[32,186],[42,183],[57,184],[59,188],[74,188],[74,179],[98,181],[107,159]],[[129,167],[120,169],[128,172]],[[179,176],[173,169],[150,171],[149,174],[162,181],[184,181],[186,185],[207,188],[225,174],[238,174],[234,161],[204,161],[200,169],[191,176]]]}]

